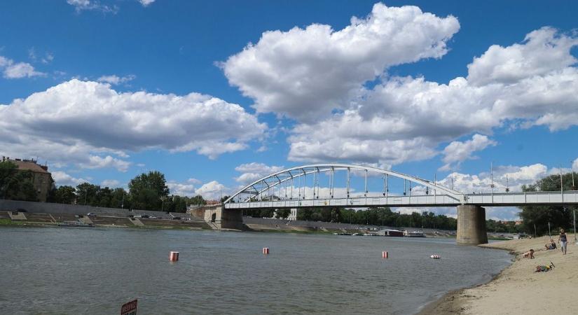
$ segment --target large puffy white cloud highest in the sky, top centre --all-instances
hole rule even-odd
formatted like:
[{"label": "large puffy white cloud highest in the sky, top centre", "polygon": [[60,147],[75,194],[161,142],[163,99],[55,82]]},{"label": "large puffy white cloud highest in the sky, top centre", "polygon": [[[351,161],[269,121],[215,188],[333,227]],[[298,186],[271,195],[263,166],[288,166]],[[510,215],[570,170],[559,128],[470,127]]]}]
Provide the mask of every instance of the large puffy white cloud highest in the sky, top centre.
[{"label": "large puffy white cloud highest in the sky, top centre", "polygon": [[319,24],[266,31],[221,66],[257,111],[312,122],[343,109],[387,67],[445,55],[458,29],[453,16],[376,3],[366,18],[337,31]]}]

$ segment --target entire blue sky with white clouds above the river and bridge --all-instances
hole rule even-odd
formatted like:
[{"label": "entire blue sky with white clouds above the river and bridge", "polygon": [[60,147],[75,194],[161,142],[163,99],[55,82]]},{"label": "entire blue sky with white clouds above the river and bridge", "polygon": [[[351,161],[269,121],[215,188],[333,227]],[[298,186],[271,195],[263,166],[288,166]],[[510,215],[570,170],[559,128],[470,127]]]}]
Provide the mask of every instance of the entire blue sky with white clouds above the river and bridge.
[{"label": "entire blue sky with white clouds above the river and bridge", "polygon": [[0,153],[48,161],[59,185],[157,169],[209,198],[308,162],[464,192],[487,191],[493,163],[498,189],[506,174],[519,189],[578,168],[576,16],[571,1],[2,1]]}]

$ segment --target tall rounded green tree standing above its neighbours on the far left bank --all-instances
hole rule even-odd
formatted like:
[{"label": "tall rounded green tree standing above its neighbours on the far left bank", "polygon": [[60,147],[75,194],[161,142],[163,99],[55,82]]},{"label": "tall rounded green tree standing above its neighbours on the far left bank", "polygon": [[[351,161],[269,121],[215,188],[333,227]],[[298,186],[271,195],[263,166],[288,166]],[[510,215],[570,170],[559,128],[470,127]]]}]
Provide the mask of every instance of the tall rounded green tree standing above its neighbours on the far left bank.
[{"label": "tall rounded green tree standing above its neighbours on the far left bank", "polygon": [[140,174],[128,183],[132,207],[142,210],[160,210],[161,198],[169,195],[165,175],[158,171]]}]

